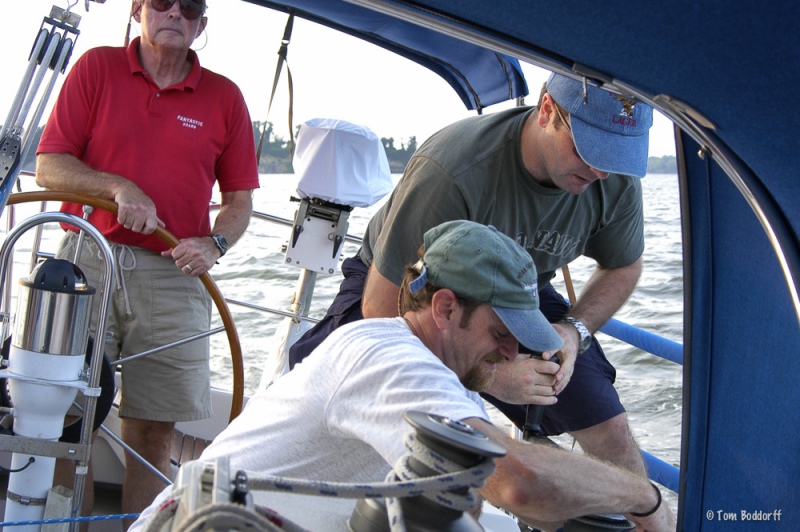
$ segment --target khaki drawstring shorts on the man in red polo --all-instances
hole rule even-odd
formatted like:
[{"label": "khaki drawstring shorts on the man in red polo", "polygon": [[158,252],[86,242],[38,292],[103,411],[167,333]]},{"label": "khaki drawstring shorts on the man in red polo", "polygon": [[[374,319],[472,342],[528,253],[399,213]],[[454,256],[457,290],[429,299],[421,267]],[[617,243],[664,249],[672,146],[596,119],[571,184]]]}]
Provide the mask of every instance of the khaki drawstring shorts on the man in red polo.
[{"label": "khaki drawstring shorts on the man in red polo", "polygon": [[[73,261],[77,233],[68,231],[56,254]],[[112,244],[116,279],[108,311],[106,354],[119,360],[208,331],[211,298],[197,277],[152,251]],[[104,260],[85,238],[79,267],[97,292],[91,334],[97,329]],[[126,297],[127,295],[127,297]],[[122,366],[120,416],[151,421],[195,421],[212,415],[208,338]]]}]

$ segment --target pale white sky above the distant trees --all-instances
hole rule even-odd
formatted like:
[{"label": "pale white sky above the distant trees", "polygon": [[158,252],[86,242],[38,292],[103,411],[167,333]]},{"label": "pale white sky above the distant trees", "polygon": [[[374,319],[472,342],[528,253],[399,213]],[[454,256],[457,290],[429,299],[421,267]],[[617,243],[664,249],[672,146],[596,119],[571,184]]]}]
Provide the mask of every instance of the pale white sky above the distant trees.
[{"label": "pale white sky above the distant trees", "polygon": [[[73,0],[75,1],[75,0]],[[9,3],[6,0],[6,3]],[[0,22],[0,122],[5,121],[27,67],[28,53],[43,17],[57,5],[52,0],[13,1],[4,6]],[[286,71],[267,115],[275,74],[277,51],[287,15],[242,0],[208,0],[208,26],[192,46],[200,63],[236,82],[242,90],[251,118],[269,120],[278,135],[288,138],[289,97]],[[82,19],[78,26],[70,65],[95,46],[121,46],[130,13],[130,0],[90,2],[77,0],[72,9]],[[135,22],[131,38],[139,34]],[[407,59],[323,26],[295,20],[288,52],[294,85],[294,125],[312,118],[336,118],[361,124],[378,137],[392,137],[395,146],[415,136],[421,143],[447,124],[473,116],[455,91],[441,78]],[[549,72],[530,64],[522,65],[534,105],[539,88]],[[45,117],[56,99],[64,76],[59,76],[48,100]],[[38,101],[38,100],[37,100]],[[496,112],[512,105],[498,104],[484,112]],[[671,122],[656,113],[650,130],[650,155],[674,155]]]}]

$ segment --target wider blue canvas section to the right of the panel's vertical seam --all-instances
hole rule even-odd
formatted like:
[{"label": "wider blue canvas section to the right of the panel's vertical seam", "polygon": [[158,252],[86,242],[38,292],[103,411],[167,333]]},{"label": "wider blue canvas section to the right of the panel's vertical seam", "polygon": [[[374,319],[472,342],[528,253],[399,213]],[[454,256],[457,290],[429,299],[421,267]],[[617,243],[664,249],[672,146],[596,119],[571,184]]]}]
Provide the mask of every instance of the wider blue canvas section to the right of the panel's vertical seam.
[{"label": "wider blue canvas section to the right of the panel's vertical seam", "polygon": [[782,526],[770,528],[797,530],[800,328],[764,229],[717,167],[711,183],[715,297],[703,498],[710,509],[783,509]]}]

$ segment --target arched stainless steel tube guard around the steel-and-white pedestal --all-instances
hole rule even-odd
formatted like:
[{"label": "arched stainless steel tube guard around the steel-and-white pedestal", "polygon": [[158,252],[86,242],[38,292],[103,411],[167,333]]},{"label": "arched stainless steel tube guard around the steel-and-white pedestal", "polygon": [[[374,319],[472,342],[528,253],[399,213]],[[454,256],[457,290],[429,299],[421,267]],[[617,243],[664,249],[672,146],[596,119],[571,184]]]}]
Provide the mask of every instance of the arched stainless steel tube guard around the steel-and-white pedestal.
[{"label": "arched stainless steel tube guard around the steel-and-white pedestal", "polygon": [[[105,238],[94,228],[89,222],[78,218],[77,216],[65,213],[41,213],[31,216],[24,222],[20,223],[14,228],[0,248],[0,293],[4,293],[3,287],[7,283],[7,273],[11,269],[12,249],[17,240],[23,233],[29,229],[45,223],[51,222],[65,222],[81,229],[85,234],[88,234],[92,240],[95,241],[98,248],[103,253],[103,259],[106,264],[105,274],[103,276],[103,289],[102,299],[100,302],[100,311],[98,314],[97,324],[97,338],[105,338],[106,333],[106,318],[108,314],[108,306],[111,297],[111,282],[114,278],[114,262],[112,260],[111,249],[106,243]],[[9,318],[10,318],[10,297],[4,297],[2,302],[2,337],[8,336]],[[53,458],[64,458],[74,460],[77,462],[75,469],[75,482],[73,485],[73,499],[71,515],[76,517],[81,508],[83,500],[84,486],[86,483],[86,475],[88,473],[89,455],[91,451],[91,437],[92,427],[94,421],[95,407],[97,396],[100,394],[100,369],[103,357],[103,342],[96,341],[91,358],[91,367],[88,375],[83,375],[83,385],[80,386],[84,390],[84,423],[81,429],[81,438],[78,444],[53,442],[49,440],[27,438],[23,436],[6,436],[0,435],[0,450],[12,452],[24,452],[27,454],[34,454],[37,456],[46,456]],[[3,370],[0,376],[16,379],[18,378],[12,372]],[[38,384],[48,385],[47,381],[39,380]],[[42,513],[44,509],[42,509]]]}]

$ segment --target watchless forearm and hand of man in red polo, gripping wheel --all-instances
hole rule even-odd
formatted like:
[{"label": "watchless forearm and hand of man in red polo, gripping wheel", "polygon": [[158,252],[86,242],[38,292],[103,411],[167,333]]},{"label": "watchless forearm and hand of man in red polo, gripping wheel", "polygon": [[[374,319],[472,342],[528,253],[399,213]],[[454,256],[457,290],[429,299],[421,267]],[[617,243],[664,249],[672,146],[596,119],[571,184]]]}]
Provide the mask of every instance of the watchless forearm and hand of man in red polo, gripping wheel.
[{"label": "watchless forearm and hand of man in red polo, gripping wheel", "polygon": [[133,181],[94,170],[68,153],[40,153],[36,157],[36,184],[113,201],[117,204],[117,221],[137,233],[149,235],[164,225],[153,201]]}]

